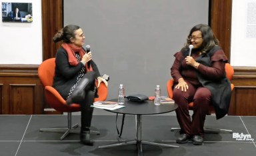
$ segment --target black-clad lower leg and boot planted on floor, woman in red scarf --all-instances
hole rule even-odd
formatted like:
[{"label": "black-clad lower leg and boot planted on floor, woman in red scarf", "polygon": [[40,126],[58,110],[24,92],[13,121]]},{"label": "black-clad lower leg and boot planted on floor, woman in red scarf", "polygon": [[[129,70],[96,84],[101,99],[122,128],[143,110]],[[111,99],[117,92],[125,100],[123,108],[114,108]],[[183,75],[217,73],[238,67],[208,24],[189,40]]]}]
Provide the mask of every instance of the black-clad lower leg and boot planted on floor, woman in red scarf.
[{"label": "black-clad lower leg and boot planted on floor, woman in red scarf", "polygon": [[85,100],[81,102],[81,132],[80,141],[85,145],[93,145],[94,141],[90,139],[91,119],[93,117],[93,101],[95,93],[87,91]]}]

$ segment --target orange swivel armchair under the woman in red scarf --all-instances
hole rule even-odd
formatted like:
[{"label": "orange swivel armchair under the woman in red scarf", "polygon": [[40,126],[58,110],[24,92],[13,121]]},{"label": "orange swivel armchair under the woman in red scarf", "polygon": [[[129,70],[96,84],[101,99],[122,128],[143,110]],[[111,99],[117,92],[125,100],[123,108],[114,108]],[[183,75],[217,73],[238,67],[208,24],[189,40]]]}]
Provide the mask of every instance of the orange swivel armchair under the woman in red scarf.
[{"label": "orange swivel armchair under the woman in red scarf", "polygon": [[[65,103],[65,99],[61,97],[59,92],[51,87],[53,85],[53,77],[55,75],[55,58],[47,59],[39,65],[38,68],[38,76],[45,87],[45,100],[50,107],[53,107],[56,111],[61,113],[67,113],[67,128],[50,128],[50,129],[40,129],[40,131],[49,131],[49,132],[58,132],[64,133],[61,136],[61,140],[63,140],[69,133],[80,133],[80,129],[77,129],[78,124],[71,126],[71,117],[72,112],[80,111],[80,105],[77,103],[73,103],[71,105],[67,105]],[[96,81],[97,83],[97,81]],[[107,99],[107,87],[105,83],[101,83],[98,88],[98,98],[95,98],[95,101],[105,101]],[[93,132],[93,131],[92,131]],[[95,133],[99,134],[99,132],[95,131]]]}]

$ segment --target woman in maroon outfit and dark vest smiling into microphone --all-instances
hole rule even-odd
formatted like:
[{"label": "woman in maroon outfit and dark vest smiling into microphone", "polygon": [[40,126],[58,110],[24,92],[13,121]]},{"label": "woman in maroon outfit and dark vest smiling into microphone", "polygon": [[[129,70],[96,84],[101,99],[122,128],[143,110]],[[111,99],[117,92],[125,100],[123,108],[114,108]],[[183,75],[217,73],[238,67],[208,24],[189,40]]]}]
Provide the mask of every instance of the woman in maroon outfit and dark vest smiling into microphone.
[{"label": "woman in maroon outfit and dark vest smiling into microphone", "polygon": [[[189,47],[192,45],[191,51]],[[217,119],[225,116],[229,108],[231,85],[225,76],[228,59],[211,27],[203,24],[191,29],[187,43],[174,56],[171,67],[175,81],[173,99],[179,105],[175,111],[181,127],[176,142],[187,143],[192,139],[193,144],[202,145],[209,105],[215,107]],[[190,102],[194,103],[192,119],[189,115]]]}]

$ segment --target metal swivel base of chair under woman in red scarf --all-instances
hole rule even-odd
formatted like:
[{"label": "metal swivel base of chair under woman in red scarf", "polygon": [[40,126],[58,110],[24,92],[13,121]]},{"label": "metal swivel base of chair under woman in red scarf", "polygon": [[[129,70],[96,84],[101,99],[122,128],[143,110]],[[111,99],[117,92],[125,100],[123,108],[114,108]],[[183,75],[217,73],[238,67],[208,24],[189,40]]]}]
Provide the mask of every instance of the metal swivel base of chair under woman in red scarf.
[{"label": "metal swivel base of chair under woman in red scarf", "polygon": [[[80,129],[77,129],[77,127],[79,126],[78,123],[76,123],[75,125],[71,126],[71,116],[72,113],[68,112],[67,113],[67,128],[47,128],[47,129],[40,129],[40,131],[44,131],[44,132],[56,132],[56,133],[64,133],[60,140],[63,140],[65,137],[67,137],[67,135],[69,135],[69,133],[80,133]],[[97,134],[99,135],[99,131],[90,131],[93,134]]]}]

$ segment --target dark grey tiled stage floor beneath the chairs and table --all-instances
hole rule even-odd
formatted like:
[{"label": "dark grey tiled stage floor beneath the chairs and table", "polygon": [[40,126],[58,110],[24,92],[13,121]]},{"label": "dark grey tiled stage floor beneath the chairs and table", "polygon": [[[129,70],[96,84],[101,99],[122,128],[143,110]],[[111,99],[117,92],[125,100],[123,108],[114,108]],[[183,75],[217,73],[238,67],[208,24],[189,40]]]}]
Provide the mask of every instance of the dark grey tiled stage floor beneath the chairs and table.
[{"label": "dark grey tiled stage floor beneath the chairs and table", "polygon": [[[256,117],[226,116],[216,120],[215,116],[207,116],[205,127],[232,129],[233,133],[207,133],[204,145],[196,146],[191,142],[175,143],[179,131],[171,131],[171,127],[179,127],[175,115],[142,115],[142,139],[156,141],[179,148],[143,145],[143,155],[232,155],[245,156],[256,153]],[[79,123],[80,115],[73,115],[73,124]],[[118,117],[121,126],[121,116]],[[115,115],[94,115],[92,130],[101,135],[91,135],[94,146],[79,143],[79,134],[70,134],[63,141],[63,133],[40,132],[40,128],[65,127],[67,115],[0,115],[0,155],[137,155],[135,145],[99,149],[101,145],[129,141],[135,139],[135,116],[127,115],[121,139],[117,137]],[[235,135],[236,133],[236,135]],[[238,140],[235,136],[247,136]],[[251,138],[248,136],[251,135]],[[251,141],[254,139],[254,141]]]}]

